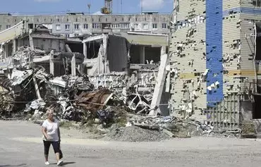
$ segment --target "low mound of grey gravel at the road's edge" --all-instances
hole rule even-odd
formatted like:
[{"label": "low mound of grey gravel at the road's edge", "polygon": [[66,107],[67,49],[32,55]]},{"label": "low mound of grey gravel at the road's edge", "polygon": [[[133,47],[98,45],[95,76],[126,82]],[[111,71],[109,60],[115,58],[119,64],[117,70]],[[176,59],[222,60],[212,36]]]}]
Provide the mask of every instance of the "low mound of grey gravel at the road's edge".
[{"label": "low mound of grey gravel at the road's edge", "polygon": [[167,140],[170,137],[162,131],[146,130],[136,126],[122,127],[111,130],[104,140],[116,140],[122,142],[156,142]]}]

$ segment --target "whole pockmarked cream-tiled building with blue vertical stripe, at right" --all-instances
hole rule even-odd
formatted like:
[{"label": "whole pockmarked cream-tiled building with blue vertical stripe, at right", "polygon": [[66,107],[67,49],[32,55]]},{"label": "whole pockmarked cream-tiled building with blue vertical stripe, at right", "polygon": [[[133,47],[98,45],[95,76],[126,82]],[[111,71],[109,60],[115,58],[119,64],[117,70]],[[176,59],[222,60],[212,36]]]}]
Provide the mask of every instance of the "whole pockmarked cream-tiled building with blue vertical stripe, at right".
[{"label": "whole pockmarked cream-tiled building with blue vertical stripe, at right", "polygon": [[174,1],[173,114],[207,121],[216,130],[261,118],[260,7],[252,0]]}]

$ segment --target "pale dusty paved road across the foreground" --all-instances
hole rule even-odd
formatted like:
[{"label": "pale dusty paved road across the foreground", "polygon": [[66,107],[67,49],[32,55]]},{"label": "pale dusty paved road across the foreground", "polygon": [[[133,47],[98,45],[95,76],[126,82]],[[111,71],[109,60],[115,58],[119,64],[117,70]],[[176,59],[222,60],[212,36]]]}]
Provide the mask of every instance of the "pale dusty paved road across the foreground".
[{"label": "pale dusty paved road across the foreground", "polygon": [[[45,166],[40,126],[0,121],[0,167]],[[164,142],[104,142],[62,130],[65,166],[260,166],[261,140],[195,137]],[[51,166],[56,166],[51,149]]]}]

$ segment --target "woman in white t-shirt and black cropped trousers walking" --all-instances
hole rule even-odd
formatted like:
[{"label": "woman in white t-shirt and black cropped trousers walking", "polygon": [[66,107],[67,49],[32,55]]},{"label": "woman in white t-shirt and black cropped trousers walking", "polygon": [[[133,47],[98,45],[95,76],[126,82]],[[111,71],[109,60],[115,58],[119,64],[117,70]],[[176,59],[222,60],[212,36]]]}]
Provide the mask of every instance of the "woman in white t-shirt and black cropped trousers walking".
[{"label": "woman in white t-shirt and black cropped trousers walking", "polygon": [[63,161],[60,159],[60,130],[59,130],[59,122],[54,118],[54,111],[49,109],[47,111],[47,120],[44,120],[42,123],[42,140],[44,141],[44,158],[45,164],[49,165],[48,156],[49,156],[49,148],[52,145],[54,148],[54,153],[56,155],[57,166],[61,166]]}]

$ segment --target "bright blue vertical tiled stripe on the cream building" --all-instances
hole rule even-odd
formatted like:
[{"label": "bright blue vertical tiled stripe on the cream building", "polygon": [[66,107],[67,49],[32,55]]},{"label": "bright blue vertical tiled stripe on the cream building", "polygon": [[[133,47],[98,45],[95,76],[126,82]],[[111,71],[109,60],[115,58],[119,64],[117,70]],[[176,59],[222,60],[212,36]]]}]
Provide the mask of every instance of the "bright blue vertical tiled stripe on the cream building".
[{"label": "bright blue vertical tiled stripe on the cream building", "polygon": [[[217,101],[224,99],[223,94],[223,66],[222,66],[222,18],[223,1],[206,1],[206,68],[209,69],[206,80],[207,106],[214,106]],[[215,85],[215,83],[219,83]],[[215,85],[212,87],[211,85]]]}]

